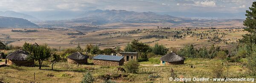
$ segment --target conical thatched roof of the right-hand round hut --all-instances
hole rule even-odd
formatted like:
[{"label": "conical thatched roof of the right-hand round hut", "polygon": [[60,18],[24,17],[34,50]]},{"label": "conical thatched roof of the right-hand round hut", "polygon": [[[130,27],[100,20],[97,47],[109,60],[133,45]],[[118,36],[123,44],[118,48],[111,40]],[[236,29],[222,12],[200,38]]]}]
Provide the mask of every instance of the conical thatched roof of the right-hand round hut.
[{"label": "conical thatched roof of the right-hand round hut", "polygon": [[169,54],[166,54],[163,57],[161,57],[160,60],[166,61],[166,62],[178,62],[178,61],[185,60],[185,58],[180,57],[174,52],[170,52]]}]

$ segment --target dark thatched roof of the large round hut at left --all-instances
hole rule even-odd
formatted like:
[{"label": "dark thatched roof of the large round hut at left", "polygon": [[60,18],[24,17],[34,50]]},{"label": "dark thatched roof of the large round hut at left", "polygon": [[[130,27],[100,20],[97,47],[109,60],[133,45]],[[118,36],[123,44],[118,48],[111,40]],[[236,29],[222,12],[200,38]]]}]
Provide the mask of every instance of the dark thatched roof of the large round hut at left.
[{"label": "dark thatched roof of the large round hut at left", "polygon": [[19,49],[7,55],[6,58],[9,60],[23,61],[23,60],[27,60],[28,55],[29,55],[29,52]]}]

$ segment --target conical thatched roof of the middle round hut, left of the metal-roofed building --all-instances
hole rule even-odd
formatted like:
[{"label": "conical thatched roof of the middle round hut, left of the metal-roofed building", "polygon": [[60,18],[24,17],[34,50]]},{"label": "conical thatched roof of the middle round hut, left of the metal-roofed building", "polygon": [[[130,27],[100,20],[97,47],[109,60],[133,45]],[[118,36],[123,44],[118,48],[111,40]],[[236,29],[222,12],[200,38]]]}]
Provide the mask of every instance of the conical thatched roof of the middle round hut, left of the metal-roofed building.
[{"label": "conical thatched roof of the middle round hut, left of the metal-roofed building", "polygon": [[80,52],[75,52],[67,56],[67,58],[73,59],[73,60],[84,60],[84,59],[87,59],[88,57],[89,56],[81,54]]}]

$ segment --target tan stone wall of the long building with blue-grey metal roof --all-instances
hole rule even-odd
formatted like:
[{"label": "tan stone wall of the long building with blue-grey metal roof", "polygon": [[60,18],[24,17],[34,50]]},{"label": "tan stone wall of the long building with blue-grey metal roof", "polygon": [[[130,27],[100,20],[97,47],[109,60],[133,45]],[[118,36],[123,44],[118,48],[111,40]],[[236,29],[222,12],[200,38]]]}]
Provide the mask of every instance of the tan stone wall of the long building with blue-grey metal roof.
[{"label": "tan stone wall of the long building with blue-grey metal roof", "polygon": [[111,61],[111,60],[96,60],[93,59],[93,63],[95,65],[102,65],[102,66],[122,66],[124,64],[124,60],[120,61]]}]

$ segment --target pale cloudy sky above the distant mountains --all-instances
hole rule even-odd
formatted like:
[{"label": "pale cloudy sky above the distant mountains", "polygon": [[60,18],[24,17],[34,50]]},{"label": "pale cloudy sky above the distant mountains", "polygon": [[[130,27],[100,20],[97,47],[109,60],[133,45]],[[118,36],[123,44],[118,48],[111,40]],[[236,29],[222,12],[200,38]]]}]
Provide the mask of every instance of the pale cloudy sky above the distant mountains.
[{"label": "pale cloudy sky above the distant mountains", "polygon": [[256,0],[0,0],[0,11],[35,15],[38,14],[36,12],[68,13],[115,9],[152,11],[176,17],[244,19],[245,11],[253,1]]}]

